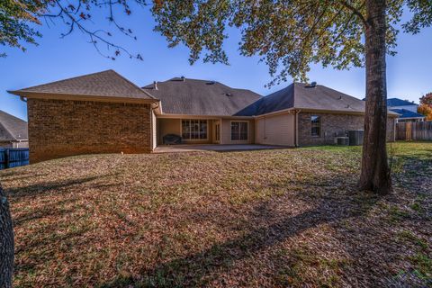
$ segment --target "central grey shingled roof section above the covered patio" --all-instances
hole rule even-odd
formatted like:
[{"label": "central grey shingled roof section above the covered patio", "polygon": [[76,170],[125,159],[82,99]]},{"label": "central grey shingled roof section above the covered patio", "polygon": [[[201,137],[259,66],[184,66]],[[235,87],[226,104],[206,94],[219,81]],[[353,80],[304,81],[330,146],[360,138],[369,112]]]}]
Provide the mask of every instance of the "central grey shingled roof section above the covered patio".
[{"label": "central grey shingled roof section above the covered patio", "polygon": [[143,87],[160,99],[162,111],[170,114],[232,116],[262,98],[245,89],[219,82],[176,77]]}]

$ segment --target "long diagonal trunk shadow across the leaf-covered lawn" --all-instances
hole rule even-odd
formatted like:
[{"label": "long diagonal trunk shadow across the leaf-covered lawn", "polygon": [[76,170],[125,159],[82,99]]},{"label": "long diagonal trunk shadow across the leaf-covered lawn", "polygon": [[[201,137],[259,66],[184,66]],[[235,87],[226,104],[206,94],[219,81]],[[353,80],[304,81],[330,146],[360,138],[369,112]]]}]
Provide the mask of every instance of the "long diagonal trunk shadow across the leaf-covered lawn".
[{"label": "long diagonal trunk shadow across the leaf-covered lawn", "polygon": [[[341,176],[328,181],[344,183],[344,180],[346,179]],[[326,181],[317,183],[317,187],[323,188],[325,183]],[[324,192],[321,193],[311,193],[311,190],[307,194],[299,192],[295,196],[302,199],[303,202],[310,202],[312,199],[313,202],[318,202],[315,208],[282,217],[282,219],[276,218],[274,221],[270,221],[268,225],[252,224],[250,227],[253,228],[248,229],[243,236],[215,244],[202,252],[162,263],[150,270],[143,271],[138,277],[119,275],[112,282],[98,286],[180,287],[208,285],[217,280],[215,278],[219,274],[229,273],[229,268],[234,266],[236,262],[256,257],[262,251],[275,247],[307,229],[360,217],[367,213],[380,199],[371,194],[356,192],[353,188],[351,187],[351,191],[337,194],[334,194],[334,187],[327,191],[324,187]],[[259,202],[251,213],[251,221],[266,223],[266,220],[272,219],[271,214],[275,208],[275,203],[287,201],[284,196],[276,198]],[[224,216],[220,215],[220,217],[223,218]],[[273,260],[270,259],[269,261]],[[273,264],[275,265],[275,263]]]}]

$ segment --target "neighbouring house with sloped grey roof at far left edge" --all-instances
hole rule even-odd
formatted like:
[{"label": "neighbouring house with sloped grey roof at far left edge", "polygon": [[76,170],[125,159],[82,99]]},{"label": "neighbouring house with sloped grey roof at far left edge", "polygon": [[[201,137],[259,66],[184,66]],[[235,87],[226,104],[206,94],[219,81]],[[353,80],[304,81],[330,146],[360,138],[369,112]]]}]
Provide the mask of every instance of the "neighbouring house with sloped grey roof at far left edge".
[{"label": "neighbouring house with sloped grey roof at far left edge", "polygon": [[0,110],[0,148],[27,147],[27,122]]}]

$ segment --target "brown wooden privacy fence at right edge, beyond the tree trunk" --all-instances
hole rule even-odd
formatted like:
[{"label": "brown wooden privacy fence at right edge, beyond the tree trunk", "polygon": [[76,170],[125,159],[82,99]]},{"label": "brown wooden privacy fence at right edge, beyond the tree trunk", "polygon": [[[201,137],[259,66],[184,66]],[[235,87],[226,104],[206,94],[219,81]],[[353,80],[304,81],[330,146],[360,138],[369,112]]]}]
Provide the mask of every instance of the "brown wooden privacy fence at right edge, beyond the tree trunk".
[{"label": "brown wooden privacy fence at right edge, beyond the tree trunk", "polygon": [[397,140],[432,140],[432,121],[396,123]]}]

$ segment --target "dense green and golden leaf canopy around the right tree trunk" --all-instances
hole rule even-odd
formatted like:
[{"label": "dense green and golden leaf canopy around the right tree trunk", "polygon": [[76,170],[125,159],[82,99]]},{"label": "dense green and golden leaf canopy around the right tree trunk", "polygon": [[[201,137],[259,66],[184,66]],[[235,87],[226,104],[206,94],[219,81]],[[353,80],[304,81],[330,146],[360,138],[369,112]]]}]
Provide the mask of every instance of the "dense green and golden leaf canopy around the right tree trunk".
[{"label": "dense green and golden leaf canopy around the right tree trunk", "polygon": [[[158,1],[152,8],[156,31],[170,46],[183,43],[193,63],[227,63],[227,27],[241,31],[240,53],[259,55],[279,84],[288,76],[307,79],[311,63],[347,69],[365,65],[365,1],[189,0]],[[404,31],[417,33],[432,23],[432,2],[389,0],[387,51],[394,55],[396,24],[404,10],[413,14]]]}]

